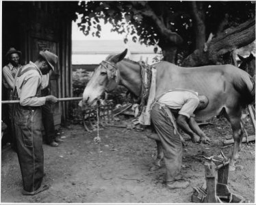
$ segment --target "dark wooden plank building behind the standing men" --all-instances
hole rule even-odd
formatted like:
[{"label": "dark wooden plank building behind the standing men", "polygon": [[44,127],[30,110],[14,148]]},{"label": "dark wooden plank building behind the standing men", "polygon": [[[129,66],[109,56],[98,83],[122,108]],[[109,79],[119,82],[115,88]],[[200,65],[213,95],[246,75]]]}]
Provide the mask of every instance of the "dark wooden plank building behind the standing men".
[{"label": "dark wooden plank building behind the standing men", "polygon": [[[35,61],[39,51],[59,57],[51,72],[51,93],[72,97],[71,35],[78,1],[2,1],[2,62],[10,47],[22,52],[23,64]],[[68,119],[68,103],[54,105],[55,120]]]}]

